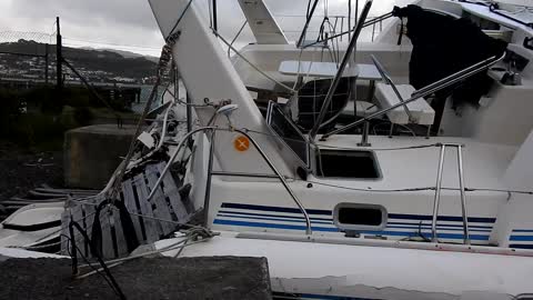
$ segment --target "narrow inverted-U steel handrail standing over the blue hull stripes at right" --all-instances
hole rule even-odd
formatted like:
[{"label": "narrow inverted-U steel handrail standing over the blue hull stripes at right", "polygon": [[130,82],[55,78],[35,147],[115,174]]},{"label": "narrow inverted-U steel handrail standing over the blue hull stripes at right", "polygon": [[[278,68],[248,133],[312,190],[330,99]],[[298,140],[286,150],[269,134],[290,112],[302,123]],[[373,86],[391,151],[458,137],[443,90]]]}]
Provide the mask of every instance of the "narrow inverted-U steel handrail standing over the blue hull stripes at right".
[{"label": "narrow inverted-U steel handrail standing over the blue hull stripes at right", "polygon": [[464,243],[470,244],[469,236],[469,214],[466,212],[466,193],[464,191],[464,170],[463,170],[463,146],[460,143],[442,143],[441,151],[439,156],[439,169],[436,171],[436,187],[435,187],[435,197],[433,200],[433,218],[431,223],[431,240],[433,242],[439,242],[436,234],[436,221],[439,219],[439,203],[441,200],[441,189],[442,189],[442,171],[444,169],[444,156],[446,147],[455,147],[457,150],[457,168],[459,168],[459,189],[461,191],[461,211],[463,216],[463,232],[464,232]]}]

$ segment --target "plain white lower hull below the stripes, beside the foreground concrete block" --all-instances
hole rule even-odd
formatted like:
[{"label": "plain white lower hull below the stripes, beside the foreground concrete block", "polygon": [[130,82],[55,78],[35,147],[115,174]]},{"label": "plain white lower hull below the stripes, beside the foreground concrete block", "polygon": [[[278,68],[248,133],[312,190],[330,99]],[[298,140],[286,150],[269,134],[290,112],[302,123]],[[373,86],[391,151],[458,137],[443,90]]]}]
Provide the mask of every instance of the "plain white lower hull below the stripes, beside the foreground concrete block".
[{"label": "plain white lower hull below the stripes, beside the foreground concrete block", "polygon": [[[162,240],[155,247],[161,249],[178,240]],[[180,256],[265,257],[274,296],[514,299],[533,292],[533,260],[529,257],[435,249],[250,239],[239,238],[237,232],[222,232],[209,241],[185,247]],[[164,254],[173,257],[177,251]]]}]

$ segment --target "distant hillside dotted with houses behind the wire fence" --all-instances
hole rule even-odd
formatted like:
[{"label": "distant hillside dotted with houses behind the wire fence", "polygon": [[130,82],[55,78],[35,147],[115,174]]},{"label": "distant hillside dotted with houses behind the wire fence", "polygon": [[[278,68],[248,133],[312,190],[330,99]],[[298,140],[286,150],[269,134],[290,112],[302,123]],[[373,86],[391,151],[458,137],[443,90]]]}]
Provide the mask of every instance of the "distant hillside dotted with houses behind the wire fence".
[{"label": "distant hillside dotted with houses behind the wire fence", "polygon": [[[56,77],[56,46],[49,46],[49,76]],[[34,41],[19,40],[18,42],[0,43],[0,52],[17,52],[26,54],[44,54],[46,44]],[[157,71],[157,60],[143,56],[101,49],[80,49],[63,47],[63,57],[74,68],[95,82],[130,82],[151,83]],[[26,56],[0,54],[0,77],[43,78],[44,59]],[[67,80],[77,78],[63,68]]]}]

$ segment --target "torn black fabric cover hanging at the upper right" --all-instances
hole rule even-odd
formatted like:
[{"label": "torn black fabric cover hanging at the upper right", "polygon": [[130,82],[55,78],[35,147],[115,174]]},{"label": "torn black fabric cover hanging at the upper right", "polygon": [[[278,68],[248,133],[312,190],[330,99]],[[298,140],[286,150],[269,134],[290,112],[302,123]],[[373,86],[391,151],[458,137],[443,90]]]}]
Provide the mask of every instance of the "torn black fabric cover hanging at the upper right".
[{"label": "torn black fabric cover hanging at the upper right", "polygon": [[[486,36],[465,18],[456,19],[411,4],[394,8],[393,14],[406,18],[406,36],[413,44],[409,81],[415,89],[443,79],[491,57],[501,57],[507,43]],[[436,93],[452,96],[453,104],[477,104],[492,80],[486,71],[470,77]]]}]

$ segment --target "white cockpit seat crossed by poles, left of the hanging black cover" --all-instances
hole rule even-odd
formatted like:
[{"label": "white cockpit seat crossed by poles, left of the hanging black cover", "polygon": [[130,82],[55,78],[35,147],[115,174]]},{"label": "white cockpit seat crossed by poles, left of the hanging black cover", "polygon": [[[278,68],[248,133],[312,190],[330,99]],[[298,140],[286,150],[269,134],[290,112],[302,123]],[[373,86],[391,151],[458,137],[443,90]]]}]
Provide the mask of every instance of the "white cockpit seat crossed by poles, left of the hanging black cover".
[{"label": "white cockpit seat crossed by poles, left of the hanging black cover", "polygon": [[[414,88],[411,84],[396,84],[396,89],[402,96],[403,100],[410,99],[411,94],[414,92]],[[394,93],[392,87],[381,82],[375,84],[375,99],[384,109],[400,103],[400,99],[398,99],[398,96]],[[408,103],[408,108],[414,119],[414,123],[425,126],[433,124],[435,111],[430,107],[425,99],[420,98],[414,100],[413,102]],[[409,117],[403,106],[389,111],[386,117],[389,117],[389,120],[395,124],[409,123]]]}]

